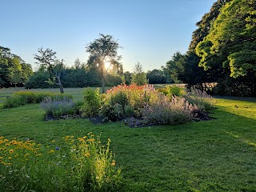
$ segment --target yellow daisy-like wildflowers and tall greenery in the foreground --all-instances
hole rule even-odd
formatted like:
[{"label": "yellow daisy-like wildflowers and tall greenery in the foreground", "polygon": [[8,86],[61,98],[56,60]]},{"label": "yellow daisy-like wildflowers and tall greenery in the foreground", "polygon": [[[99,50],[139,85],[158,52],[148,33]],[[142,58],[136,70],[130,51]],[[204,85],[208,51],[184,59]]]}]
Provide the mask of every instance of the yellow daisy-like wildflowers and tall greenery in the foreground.
[{"label": "yellow daisy-like wildflowers and tall greenery in the foreground", "polygon": [[121,181],[110,139],[92,133],[48,144],[0,137],[0,170],[4,191],[114,191]]}]

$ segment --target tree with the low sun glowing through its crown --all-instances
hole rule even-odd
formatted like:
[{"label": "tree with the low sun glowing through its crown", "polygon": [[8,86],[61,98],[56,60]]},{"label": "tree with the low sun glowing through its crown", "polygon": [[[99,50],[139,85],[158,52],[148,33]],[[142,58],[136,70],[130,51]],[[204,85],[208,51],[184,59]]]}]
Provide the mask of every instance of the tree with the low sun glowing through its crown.
[{"label": "tree with the low sun glowing through its crown", "polygon": [[116,65],[121,59],[118,55],[118,48],[120,48],[117,40],[111,35],[99,34],[100,37],[94,39],[86,46],[86,52],[90,54],[87,66],[90,70],[97,70],[99,78],[102,79],[102,93],[105,92],[105,75],[107,73],[106,62],[110,65]]}]

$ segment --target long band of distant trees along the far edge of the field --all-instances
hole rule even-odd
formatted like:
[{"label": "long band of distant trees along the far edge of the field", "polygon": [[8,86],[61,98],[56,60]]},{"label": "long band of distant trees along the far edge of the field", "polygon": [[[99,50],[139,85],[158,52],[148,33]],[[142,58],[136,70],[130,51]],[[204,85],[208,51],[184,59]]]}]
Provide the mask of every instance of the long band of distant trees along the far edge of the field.
[{"label": "long band of distant trees along the far edge of the field", "polygon": [[120,83],[150,83],[174,82],[166,67],[161,70],[142,71],[142,65],[135,64],[133,72],[123,72],[122,63],[112,59],[108,69],[98,67],[97,62],[89,58],[81,62],[78,58],[73,66],[66,66],[63,60],[56,57],[56,52],[50,49],[38,49],[34,54],[38,69],[33,72],[30,64],[26,64],[19,56],[12,54],[9,48],[0,47],[0,87],[25,86],[26,89],[60,87],[117,86]]}]

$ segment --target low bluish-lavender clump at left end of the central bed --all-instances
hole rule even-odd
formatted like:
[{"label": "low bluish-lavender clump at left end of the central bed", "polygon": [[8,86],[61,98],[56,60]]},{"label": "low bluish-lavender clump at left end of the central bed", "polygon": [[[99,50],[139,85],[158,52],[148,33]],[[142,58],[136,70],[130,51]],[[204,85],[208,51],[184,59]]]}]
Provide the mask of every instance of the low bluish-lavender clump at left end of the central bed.
[{"label": "low bluish-lavender clump at left end of the central bed", "polygon": [[60,118],[65,114],[75,114],[74,102],[70,98],[44,98],[41,103],[41,107],[46,111],[47,115],[52,115],[55,118]]}]

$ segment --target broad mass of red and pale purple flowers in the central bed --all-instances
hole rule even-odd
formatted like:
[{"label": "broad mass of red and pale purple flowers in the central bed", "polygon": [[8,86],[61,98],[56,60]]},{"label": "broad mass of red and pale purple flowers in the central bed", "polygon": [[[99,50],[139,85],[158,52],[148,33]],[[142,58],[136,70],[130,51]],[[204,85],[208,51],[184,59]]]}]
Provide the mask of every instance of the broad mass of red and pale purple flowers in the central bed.
[{"label": "broad mass of red and pale purple flowers in the central bed", "polygon": [[176,125],[207,118],[198,102],[181,97],[185,94],[182,88],[166,87],[168,93],[165,95],[151,85],[115,86],[107,91],[101,112],[110,120],[124,118],[123,122],[132,127]]}]

